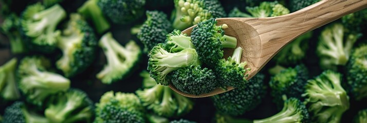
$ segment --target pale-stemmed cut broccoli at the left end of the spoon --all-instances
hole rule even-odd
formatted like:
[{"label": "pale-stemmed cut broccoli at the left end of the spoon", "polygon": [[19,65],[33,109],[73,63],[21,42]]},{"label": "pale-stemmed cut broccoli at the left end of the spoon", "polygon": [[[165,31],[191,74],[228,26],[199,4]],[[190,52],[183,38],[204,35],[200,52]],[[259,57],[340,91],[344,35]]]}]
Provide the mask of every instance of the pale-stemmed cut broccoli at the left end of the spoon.
[{"label": "pale-stemmed cut broccoli at the left end of the spoon", "polygon": [[174,30],[167,35],[166,43],[153,47],[148,54],[148,70],[157,84],[168,86],[170,80],[166,76],[179,68],[200,65],[198,54],[186,34]]}]

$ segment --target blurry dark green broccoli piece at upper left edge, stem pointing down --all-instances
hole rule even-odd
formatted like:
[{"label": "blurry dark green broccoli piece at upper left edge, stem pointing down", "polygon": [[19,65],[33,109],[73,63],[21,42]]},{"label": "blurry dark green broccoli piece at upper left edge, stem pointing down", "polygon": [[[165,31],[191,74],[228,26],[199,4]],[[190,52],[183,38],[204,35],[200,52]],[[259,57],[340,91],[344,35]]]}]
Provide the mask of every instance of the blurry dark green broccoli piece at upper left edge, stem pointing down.
[{"label": "blurry dark green broccoli piece at upper left edge, stem pointing down", "polygon": [[15,14],[12,13],[6,16],[3,24],[1,25],[0,31],[6,34],[10,41],[10,49],[14,54],[24,53],[27,51],[27,47],[24,45],[23,39],[19,32],[20,19]]}]

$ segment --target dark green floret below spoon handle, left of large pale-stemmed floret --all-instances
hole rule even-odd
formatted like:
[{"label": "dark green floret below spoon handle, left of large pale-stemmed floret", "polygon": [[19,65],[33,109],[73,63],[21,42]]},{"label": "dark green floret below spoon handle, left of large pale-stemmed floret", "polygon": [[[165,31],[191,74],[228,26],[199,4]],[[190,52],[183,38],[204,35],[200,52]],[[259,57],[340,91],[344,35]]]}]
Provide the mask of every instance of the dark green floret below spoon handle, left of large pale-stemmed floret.
[{"label": "dark green floret below spoon handle, left of large pale-stemmed floret", "polygon": [[308,70],[304,65],[288,68],[271,77],[269,85],[271,96],[278,108],[282,108],[283,97],[295,97],[302,100],[305,85],[308,80]]}]

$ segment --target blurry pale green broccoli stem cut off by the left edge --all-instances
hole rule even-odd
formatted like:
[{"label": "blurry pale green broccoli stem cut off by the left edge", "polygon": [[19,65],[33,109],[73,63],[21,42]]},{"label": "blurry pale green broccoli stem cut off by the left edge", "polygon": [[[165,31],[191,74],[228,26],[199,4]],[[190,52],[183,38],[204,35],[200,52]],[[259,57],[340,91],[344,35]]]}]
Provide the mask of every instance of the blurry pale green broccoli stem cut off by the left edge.
[{"label": "blurry pale green broccoli stem cut off by the left edge", "polygon": [[0,99],[15,100],[21,97],[16,86],[15,69],[17,59],[12,58],[4,65],[0,66]]}]

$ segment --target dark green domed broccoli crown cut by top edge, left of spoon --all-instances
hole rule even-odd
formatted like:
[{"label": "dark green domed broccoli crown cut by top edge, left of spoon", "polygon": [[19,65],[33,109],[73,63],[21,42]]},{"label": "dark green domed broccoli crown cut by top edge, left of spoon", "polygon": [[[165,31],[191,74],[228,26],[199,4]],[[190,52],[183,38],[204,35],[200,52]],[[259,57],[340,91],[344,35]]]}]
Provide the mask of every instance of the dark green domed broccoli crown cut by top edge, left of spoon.
[{"label": "dark green domed broccoli crown cut by top edge, left of spoon", "polygon": [[113,23],[127,24],[143,15],[145,0],[98,0],[97,4]]}]

